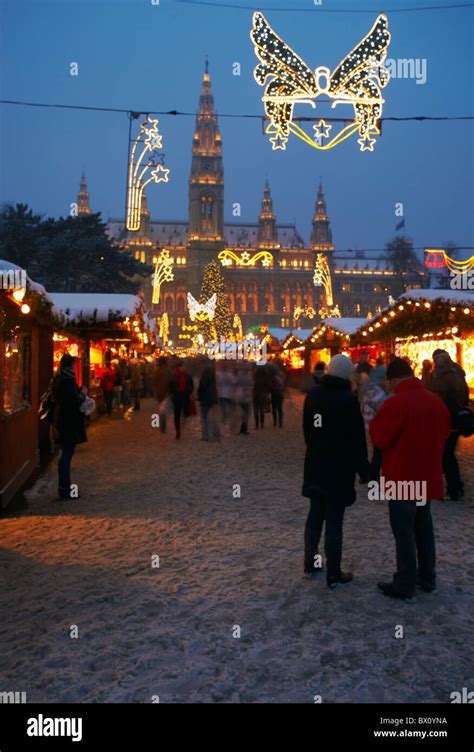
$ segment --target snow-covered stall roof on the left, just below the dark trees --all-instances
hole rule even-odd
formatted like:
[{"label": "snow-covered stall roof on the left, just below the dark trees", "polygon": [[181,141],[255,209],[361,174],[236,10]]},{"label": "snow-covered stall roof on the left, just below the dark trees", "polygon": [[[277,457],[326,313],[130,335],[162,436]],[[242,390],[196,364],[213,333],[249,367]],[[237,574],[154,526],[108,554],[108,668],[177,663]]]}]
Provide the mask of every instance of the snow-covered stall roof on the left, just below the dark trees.
[{"label": "snow-covered stall roof on the left, just below the dark trees", "polygon": [[138,295],[101,292],[52,292],[50,297],[69,321],[109,321],[132,317],[142,303]]}]

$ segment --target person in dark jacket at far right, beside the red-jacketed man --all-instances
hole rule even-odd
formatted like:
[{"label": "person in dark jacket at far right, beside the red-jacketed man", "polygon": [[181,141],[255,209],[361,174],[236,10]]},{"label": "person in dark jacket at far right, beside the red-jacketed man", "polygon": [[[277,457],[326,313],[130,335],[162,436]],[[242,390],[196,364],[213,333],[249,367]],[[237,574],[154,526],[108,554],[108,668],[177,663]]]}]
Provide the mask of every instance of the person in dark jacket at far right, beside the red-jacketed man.
[{"label": "person in dark jacket at far right, beside the red-jacketed man", "polygon": [[452,431],[446,439],[443,453],[443,472],[446,478],[446,498],[451,501],[462,501],[464,484],[459,472],[456,458],[456,445],[460,432],[457,428],[458,412],[469,405],[469,387],[466,374],[455,363],[446,350],[435,350],[433,353],[434,370],[429,375],[426,384],[430,391],[440,397],[451,415]]}]

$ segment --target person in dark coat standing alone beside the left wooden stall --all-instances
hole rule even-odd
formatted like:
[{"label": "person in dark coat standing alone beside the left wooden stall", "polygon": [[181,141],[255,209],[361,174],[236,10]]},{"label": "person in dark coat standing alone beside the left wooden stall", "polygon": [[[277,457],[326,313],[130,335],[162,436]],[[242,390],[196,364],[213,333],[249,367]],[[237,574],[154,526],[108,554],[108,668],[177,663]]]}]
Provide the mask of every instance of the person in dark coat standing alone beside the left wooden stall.
[{"label": "person in dark coat standing alone beside the left wooden stall", "polygon": [[77,385],[74,372],[75,362],[76,359],[72,355],[63,355],[52,388],[53,426],[56,440],[61,447],[58,463],[61,499],[77,498],[77,495],[71,496],[71,460],[76,444],[83,444],[87,441],[85,415],[80,410],[86,395],[84,390]]}]

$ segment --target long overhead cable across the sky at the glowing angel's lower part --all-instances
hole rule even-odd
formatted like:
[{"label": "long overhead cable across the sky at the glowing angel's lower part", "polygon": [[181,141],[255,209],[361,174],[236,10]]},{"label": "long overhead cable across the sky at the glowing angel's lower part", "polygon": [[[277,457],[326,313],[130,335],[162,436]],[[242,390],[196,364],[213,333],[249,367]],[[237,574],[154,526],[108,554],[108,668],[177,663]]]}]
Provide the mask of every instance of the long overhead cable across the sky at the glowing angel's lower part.
[{"label": "long overhead cable across the sky at the glowing angel's lower part", "polygon": [[[474,7],[474,6],[473,6]],[[91,112],[112,112],[112,113],[122,113],[126,115],[160,115],[163,116],[171,116],[171,117],[196,117],[195,112],[181,112],[180,110],[140,110],[140,112],[125,109],[122,107],[93,107],[90,105],[80,105],[80,104],[57,104],[57,103],[48,103],[48,102],[24,102],[17,99],[0,99],[0,104],[10,104],[14,106],[19,107],[44,107],[44,108],[57,108],[57,109],[63,109],[63,110],[84,110],[84,111],[91,111]],[[264,115],[250,115],[245,113],[222,113],[218,112],[217,116],[220,118],[247,118],[247,119],[254,119],[254,120],[261,120],[265,121],[268,120],[268,118]],[[293,118],[294,120],[299,121],[316,121],[319,120],[318,118],[312,118],[312,117],[298,117]],[[346,123],[351,120],[351,118],[325,118],[326,122],[330,123]],[[442,121],[442,120],[474,120],[474,115],[440,115],[440,116],[432,116],[432,115],[409,115],[407,117],[382,117],[380,118],[381,122],[410,122],[410,121]]]}]

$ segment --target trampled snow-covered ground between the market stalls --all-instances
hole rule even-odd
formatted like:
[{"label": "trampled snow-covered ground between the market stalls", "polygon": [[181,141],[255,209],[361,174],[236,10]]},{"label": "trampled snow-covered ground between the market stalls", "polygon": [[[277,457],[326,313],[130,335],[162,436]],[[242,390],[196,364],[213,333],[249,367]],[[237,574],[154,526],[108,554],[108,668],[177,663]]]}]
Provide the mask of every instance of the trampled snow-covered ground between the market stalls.
[{"label": "trampled snow-covered ground between the market stalls", "polygon": [[385,504],[363,492],[345,523],[355,581],[329,591],[324,575],[302,577],[301,406],[293,393],[283,430],[268,421],[210,444],[197,418],[180,442],[161,435],[152,400],[131,420],[101,418],[74,458],[82,497],[53,501],[53,468],[25,513],[0,520],[0,691],[446,703],[473,689],[474,440],[460,451],[470,498],[434,505],[438,595],[408,605],[377,592],[394,544]]}]

